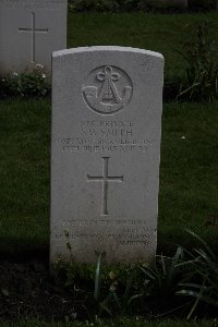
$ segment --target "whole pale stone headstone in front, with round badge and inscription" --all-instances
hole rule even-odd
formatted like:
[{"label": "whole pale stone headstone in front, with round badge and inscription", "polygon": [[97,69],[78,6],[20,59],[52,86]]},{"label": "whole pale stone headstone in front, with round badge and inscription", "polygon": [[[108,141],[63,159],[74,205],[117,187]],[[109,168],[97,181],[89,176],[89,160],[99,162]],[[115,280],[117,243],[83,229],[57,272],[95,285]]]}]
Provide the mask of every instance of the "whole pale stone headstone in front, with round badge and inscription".
[{"label": "whole pale stone headstone in front, with round badge and inscription", "polygon": [[[161,55],[122,47],[53,53],[51,262],[132,263],[156,253]],[[96,252],[96,253],[95,253]]]}]

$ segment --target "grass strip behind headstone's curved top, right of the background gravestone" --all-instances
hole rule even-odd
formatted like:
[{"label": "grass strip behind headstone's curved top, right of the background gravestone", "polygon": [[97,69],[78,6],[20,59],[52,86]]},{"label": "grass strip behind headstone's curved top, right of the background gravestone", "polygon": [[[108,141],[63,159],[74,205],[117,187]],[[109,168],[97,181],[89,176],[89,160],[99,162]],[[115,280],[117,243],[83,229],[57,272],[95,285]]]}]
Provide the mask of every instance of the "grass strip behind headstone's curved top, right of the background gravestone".
[{"label": "grass strip behind headstone's curved top, right of the background gravestone", "polygon": [[207,14],[69,13],[68,47],[129,46],[158,51],[166,59],[165,75],[180,76],[184,60],[175,50],[193,43],[199,22],[210,22],[218,44],[218,12]]}]

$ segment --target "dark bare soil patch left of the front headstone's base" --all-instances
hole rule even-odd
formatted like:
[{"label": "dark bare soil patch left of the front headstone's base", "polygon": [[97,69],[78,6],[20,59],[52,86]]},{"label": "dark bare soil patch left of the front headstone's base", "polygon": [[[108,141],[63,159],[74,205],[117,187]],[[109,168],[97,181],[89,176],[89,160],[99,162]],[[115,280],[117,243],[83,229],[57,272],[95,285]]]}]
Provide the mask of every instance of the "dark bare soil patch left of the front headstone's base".
[{"label": "dark bare soil patch left of the front headstone's base", "polygon": [[85,316],[83,303],[52,279],[44,261],[1,261],[0,280],[0,323],[27,317],[73,320]]}]

